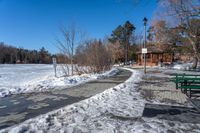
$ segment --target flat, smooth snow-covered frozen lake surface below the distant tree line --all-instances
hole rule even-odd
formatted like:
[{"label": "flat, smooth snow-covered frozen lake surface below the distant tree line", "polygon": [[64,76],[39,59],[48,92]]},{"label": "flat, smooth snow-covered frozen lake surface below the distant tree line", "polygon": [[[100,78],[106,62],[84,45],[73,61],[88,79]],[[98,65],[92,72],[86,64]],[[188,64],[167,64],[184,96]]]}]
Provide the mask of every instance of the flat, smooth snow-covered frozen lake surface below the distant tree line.
[{"label": "flat, smooth snow-covered frozen lake surface below the distant tree line", "polygon": [[1,64],[0,87],[20,87],[54,76],[53,65]]}]

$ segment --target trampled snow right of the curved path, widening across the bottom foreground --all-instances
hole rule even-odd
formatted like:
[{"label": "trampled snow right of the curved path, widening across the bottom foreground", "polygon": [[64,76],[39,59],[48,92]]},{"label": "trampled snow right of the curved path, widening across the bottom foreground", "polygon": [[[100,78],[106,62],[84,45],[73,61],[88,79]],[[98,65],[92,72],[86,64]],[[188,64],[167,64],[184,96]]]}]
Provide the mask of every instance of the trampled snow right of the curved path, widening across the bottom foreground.
[{"label": "trampled snow right of the curved path, widening across the bottom foreground", "polygon": [[145,101],[135,83],[142,73],[89,99],[40,115],[0,132],[158,133],[199,132],[200,124],[143,118]]}]

